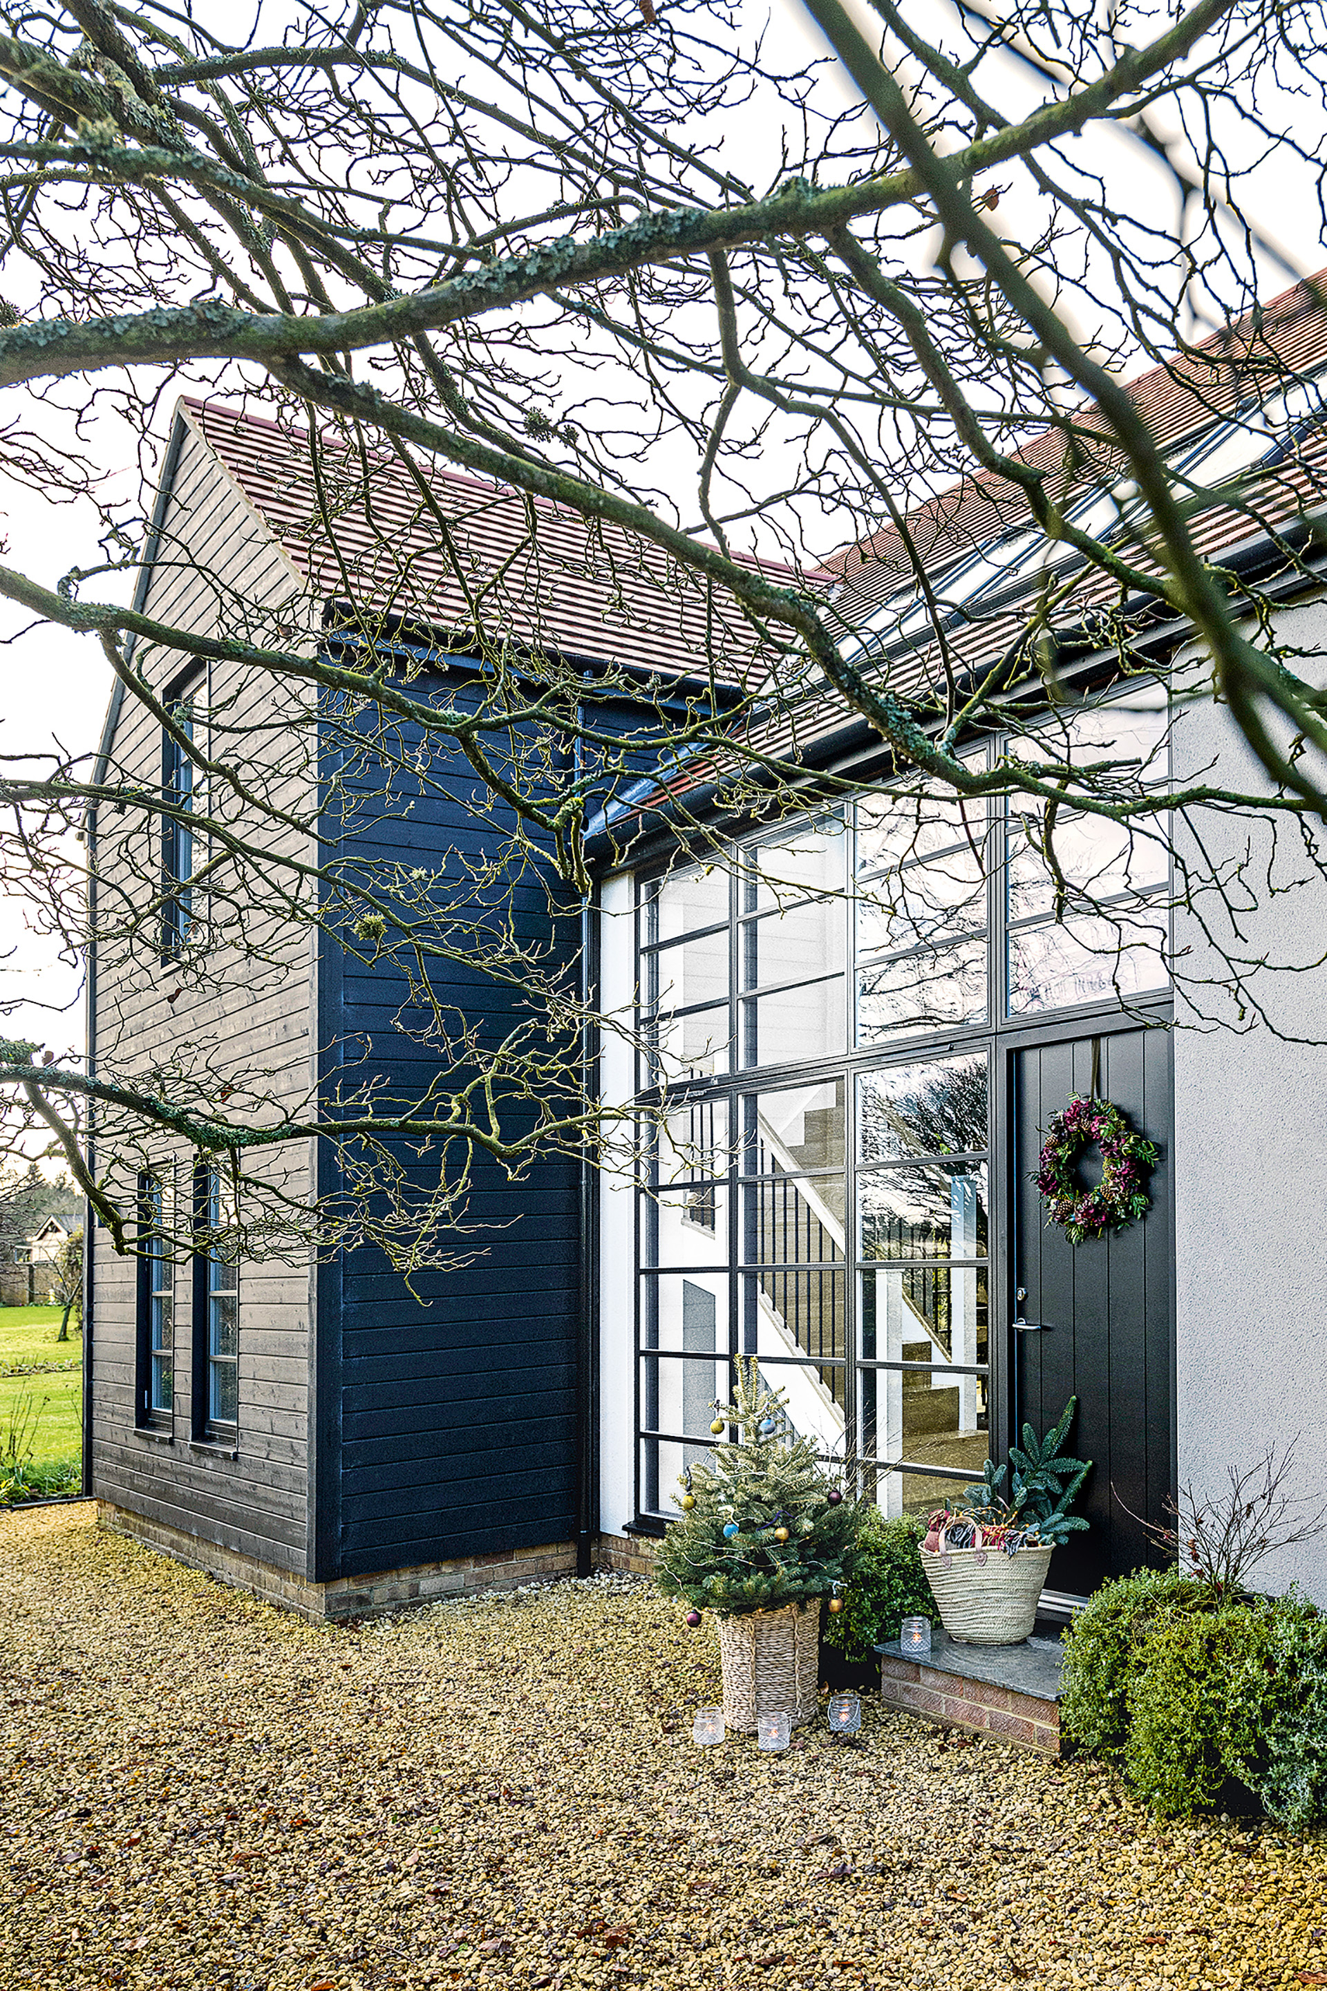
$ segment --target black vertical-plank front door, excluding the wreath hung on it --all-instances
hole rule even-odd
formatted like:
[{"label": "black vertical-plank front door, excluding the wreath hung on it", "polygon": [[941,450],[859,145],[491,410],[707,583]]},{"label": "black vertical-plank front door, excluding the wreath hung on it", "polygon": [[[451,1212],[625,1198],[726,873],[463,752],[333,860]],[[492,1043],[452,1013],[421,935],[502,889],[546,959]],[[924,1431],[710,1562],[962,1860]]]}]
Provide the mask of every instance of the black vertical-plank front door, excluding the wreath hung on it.
[{"label": "black vertical-plank front door, excluding the wreath hung on it", "polygon": [[[1120,1236],[1070,1244],[1046,1222],[1036,1163],[1044,1129],[1072,1093],[1092,1091],[1156,1143],[1152,1209]],[[1014,1418],[1040,1434],[1070,1396],[1078,1420],[1070,1449],[1092,1459],[1078,1511],[1090,1521],[1050,1565],[1048,1589],[1086,1597],[1108,1577],[1138,1569],[1148,1541],[1136,1515],[1162,1519],[1172,1491],[1172,1246],[1170,1127],[1172,1057],[1164,1029],[1118,1029],[1010,1051],[1014,1316],[1010,1380]],[[1084,1185],[1100,1177],[1100,1157],[1084,1157]]]}]

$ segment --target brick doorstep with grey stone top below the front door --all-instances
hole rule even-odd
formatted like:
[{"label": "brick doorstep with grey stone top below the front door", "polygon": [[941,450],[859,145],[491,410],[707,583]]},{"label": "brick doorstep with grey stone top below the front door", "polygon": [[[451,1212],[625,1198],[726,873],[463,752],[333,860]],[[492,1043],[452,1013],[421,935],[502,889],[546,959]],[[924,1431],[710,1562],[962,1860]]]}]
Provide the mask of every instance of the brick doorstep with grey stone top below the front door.
[{"label": "brick doorstep with grey stone top below the front door", "polygon": [[925,1659],[905,1655],[899,1641],[877,1645],[881,1700],[905,1714],[970,1728],[1060,1754],[1060,1645],[962,1645],[944,1631],[930,1635]]}]

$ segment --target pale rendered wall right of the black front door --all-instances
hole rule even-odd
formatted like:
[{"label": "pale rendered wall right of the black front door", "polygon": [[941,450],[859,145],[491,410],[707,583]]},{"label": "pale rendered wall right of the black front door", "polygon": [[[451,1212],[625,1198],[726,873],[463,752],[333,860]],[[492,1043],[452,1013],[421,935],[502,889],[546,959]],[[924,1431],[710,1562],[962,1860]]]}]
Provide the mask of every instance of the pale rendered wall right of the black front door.
[{"label": "pale rendered wall right of the black front door", "polygon": [[[1287,611],[1279,635],[1327,651],[1327,603]],[[1299,667],[1319,683],[1327,677],[1313,659]],[[1176,747],[1180,776],[1205,771],[1207,780],[1243,790],[1265,780],[1229,711],[1209,697],[1182,715]],[[1325,826],[1313,828],[1327,844]],[[1291,824],[1273,860],[1275,884],[1291,890],[1271,898],[1265,828],[1205,814],[1203,836],[1211,854],[1237,860],[1251,840],[1261,858],[1249,874],[1259,906],[1241,920],[1241,954],[1267,962],[1253,988],[1269,1021],[1241,1035],[1176,1029],[1180,1485],[1217,1493],[1227,1467],[1297,1438],[1295,1491],[1327,1501],[1327,966],[1313,966],[1327,952],[1327,890]],[[1192,916],[1178,916],[1176,942],[1194,948],[1188,964],[1180,956],[1182,980],[1203,966],[1221,972]],[[1277,972],[1287,966],[1305,972]],[[1180,1003],[1176,1013],[1184,1021]],[[1229,1019],[1229,1005],[1223,1013]],[[1327,1605],[1327,1537],[1253,1577],[1269,1591],[1291,1581]]]}]

